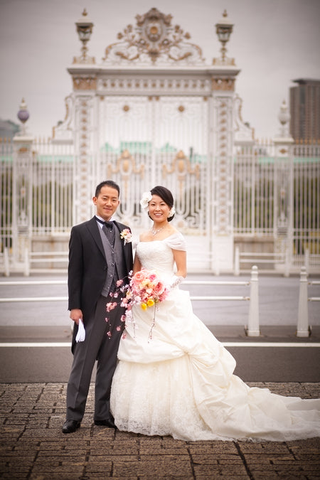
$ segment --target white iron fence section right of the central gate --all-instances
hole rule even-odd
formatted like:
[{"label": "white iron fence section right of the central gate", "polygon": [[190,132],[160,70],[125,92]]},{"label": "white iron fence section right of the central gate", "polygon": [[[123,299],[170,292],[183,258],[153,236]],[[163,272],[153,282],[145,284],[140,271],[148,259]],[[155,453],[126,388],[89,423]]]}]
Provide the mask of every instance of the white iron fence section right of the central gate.
[{"label": "white iron fence section right of the central gate", "polygon": [[[234,233],[288,239],[293,265],[320,255],[320,145],[296,144],[277,157],[274,144],[239,149],[234,166]],[[281,248],[279,249],[281,252]],[[284,252],[282,252],[284,254]]]}]

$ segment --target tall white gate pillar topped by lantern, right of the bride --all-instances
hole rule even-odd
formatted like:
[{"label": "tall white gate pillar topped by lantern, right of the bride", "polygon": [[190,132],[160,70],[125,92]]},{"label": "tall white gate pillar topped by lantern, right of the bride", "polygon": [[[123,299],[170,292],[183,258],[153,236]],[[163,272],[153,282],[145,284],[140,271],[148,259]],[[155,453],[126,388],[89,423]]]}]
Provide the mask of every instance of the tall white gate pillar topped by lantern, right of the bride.
[{"label": "tall white gate pillar topped by lantern, right of the bride", "polygon": [[235,78],[240,70],[234,59],[225,55],[232,28],[224,12],[216,24],[222,55],[213,58],[210,68],[211,268],[215,274],[233,270],[233,112]]}]

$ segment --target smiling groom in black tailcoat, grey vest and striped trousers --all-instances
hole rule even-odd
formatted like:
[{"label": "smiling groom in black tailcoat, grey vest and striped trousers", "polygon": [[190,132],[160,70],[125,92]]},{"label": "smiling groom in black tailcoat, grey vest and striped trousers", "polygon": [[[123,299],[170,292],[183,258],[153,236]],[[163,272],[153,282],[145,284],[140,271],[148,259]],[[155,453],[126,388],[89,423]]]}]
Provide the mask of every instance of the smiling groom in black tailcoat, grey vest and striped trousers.
[{"label": "smiling groom in black tailcoat, grey vest and striped trousers", "polygon": [[[63,433],[75,432],[85,413],[92,369],[97,360],[95,380],[95,425],[115,427],[110,413],[112,375],[117,365],[117,350],[124,308],[107,313],[106,304],[118,279],[132,270],[132,245],[122,239],[126,225],[110,222],[119,206],[119,186],[114,181],[100,183],[92,198],[96,215],[71,230],[69,243],[68,292],[73,330],[73,366],[67,388],[67,420]],[[107,222],[107,224],[105,224]],[[107,317],[107,321],[106,321]],[[85,325],[85,340],[75,341],[80,319]]]}]

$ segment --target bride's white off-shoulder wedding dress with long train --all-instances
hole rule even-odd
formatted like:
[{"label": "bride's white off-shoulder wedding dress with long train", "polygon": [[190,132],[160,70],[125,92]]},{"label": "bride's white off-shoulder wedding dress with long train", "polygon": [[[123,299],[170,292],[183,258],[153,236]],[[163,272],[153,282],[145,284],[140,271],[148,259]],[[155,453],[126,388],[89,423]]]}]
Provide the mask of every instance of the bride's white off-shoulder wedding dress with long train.
[{"label": "bride's white off-shoulder wedding dress with long train", "polygon": [[[170,284],[171,249],[183,236],[140,242],[142,267]],[[282,397],[250,388],[233,375],[235,359],[193,314],[189,294],[175,287],[156,306],[133,307],[119,344],[111,410],[119,430],[183,440],[303,439],[320,433],[320,400]]]}]

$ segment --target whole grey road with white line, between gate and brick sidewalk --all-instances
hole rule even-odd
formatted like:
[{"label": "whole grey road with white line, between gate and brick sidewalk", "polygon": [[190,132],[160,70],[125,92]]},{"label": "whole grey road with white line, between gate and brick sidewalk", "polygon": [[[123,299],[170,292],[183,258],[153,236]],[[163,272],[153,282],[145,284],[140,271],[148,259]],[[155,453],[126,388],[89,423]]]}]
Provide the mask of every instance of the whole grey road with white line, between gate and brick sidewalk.
[{"label": "whole grey road with white line, between gate and brick sidewalk", "polygon": [[[40,280],[38,285],[5,286],[6,281]],[[0,298],[63,297],[65,284],[46,285],[48,279],[65,277],[0,278]],[[243,281],[248,276],[232,277],[191,275],[188,279]],[[1,284],[2,283],[2,284]],[[191,295],[247,296],[250,287],[182,286]],[[309,296],[319,296],[319,287],[309,287]],[[193,310],[226,343],[237,361],[235,375],[246,382],[319,382],[320,381],[320,302],[309,302],[309,338],[297,338],[299,277],[259,279],[260,337],[245,336],[249,302],[193,302]],[[0,347],[0,382],[67,382],[72,363],[69,343],[70,319],[67,302],[4,302],[0,304],[0,342],[65,342],[65,346]],[[230,346],[228,343],[232,342]],[[252,342],[260,346],[252,346]],[[236,346],[234,345],[236,343]],[[266,343],[267,346],[262,346]],[[295,346],[280,346],[297,343]],[[304,346],[302,346],[302,343]],[[316,343],[317,346],[311,346]],[[94,373],[95,375],[95,373]]]}]

